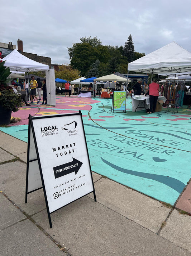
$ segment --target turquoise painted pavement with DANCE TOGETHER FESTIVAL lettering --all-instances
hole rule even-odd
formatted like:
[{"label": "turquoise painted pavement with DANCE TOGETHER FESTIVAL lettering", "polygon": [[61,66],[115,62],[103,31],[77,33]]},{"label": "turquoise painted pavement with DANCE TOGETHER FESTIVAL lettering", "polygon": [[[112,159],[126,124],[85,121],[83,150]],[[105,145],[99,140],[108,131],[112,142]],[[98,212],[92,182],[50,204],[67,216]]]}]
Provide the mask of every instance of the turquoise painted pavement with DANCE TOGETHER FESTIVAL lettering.
[{"label": "turquoise painted pavement with DANCE TOGETHER FESTIVAL lettering", "polygon": [[[111,103],[102,98],[91,104],[84,101],[91,105],[82,116],[92,171],[174,205],[191,178],[191,112],[135,113],[128,99],[126,113],[113,113]],[[71,106],[67,111],[74,111]],[[56,109],[59,103],[51,108]],[[27,142],[27,125],[0,130]]]}]

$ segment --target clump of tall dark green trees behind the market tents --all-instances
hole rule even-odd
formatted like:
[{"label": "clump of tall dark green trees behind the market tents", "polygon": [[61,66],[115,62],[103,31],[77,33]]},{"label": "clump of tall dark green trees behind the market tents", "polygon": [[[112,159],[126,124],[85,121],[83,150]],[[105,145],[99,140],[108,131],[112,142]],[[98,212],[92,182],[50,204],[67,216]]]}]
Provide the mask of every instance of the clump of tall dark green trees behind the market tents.
[{"label": "clump of tall dark green trees behind the market tents", "polygon": [[95,70],[92,70],[92,63],[95,63],[96,60],[100,61],[97,66],[99,76],[115,71],[127,73],[128,62],[144,56],[144,53],[135,52],[131,35],[125,46],[120,46],[118,49],[111,45],[102,45],[96,36],[93,38],[91,36],[81,37],[80,41],[80,43],[73,43],[72,47],[68,48],[68,54],[71,67],[78,69],[81,76],[91,77],[92,73],[96,76]]}]

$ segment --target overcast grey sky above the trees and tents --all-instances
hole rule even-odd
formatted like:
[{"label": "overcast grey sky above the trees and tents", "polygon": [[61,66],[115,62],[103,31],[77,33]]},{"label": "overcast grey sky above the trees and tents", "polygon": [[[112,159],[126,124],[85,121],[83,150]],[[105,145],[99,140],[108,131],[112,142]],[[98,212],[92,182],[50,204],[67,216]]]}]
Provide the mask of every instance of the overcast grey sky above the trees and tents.
[{"label": "overcast grey sky above the trees and tents", "polygon": [[135,51],[151,53],[177,42],[191,51],[191,0],[9,0],[1,5],[0,42],[23,41],[23,51],[70,63],[80,37],[121,46],[131,34]]}]

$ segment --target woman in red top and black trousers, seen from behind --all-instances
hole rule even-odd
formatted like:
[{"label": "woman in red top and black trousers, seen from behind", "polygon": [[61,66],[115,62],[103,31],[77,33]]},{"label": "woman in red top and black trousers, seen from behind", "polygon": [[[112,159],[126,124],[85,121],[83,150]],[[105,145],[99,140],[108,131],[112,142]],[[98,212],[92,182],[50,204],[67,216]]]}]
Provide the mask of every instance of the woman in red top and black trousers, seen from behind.
[{"label": "woman in red top and black trousers, seen from behind", "polygon": [[158,100],[158,92],[161,91],[159,84],[156,83],[156,79],[149,84],[149,98],[150,98],[150,111],[149,113],[154,113]]}]

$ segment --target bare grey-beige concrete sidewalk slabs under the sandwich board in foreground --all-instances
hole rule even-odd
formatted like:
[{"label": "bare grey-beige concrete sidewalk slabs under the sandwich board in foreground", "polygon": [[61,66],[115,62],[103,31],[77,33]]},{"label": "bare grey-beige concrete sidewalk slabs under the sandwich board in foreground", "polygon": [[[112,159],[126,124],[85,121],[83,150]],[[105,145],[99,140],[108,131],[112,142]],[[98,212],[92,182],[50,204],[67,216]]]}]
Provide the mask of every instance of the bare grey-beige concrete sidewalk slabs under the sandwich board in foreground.
[{"label": "bare grey-beige concrete sidewalk slabs under the sandwich board in foreground", "polygon": [[25,204],[27,143],[0,142],[0,255],[191,255],[191,216],[96,173],[97,202],[54,212],[50,229],[43,190]]}]

